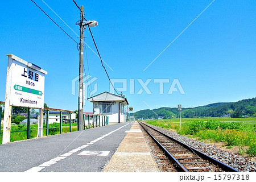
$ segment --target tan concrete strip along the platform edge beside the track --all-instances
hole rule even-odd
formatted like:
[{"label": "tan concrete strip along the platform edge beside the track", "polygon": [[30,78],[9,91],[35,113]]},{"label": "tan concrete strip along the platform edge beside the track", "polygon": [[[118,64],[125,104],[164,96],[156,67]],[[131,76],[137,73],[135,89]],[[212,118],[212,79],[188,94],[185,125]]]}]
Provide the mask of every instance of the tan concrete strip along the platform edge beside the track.
[{"label": "tan concrete strip along the platform edge beside the track", "polygon": [[158,172],[154,157],[146,143],[139,123],[134,122],[109,163],[103,169],[108,172]]}]

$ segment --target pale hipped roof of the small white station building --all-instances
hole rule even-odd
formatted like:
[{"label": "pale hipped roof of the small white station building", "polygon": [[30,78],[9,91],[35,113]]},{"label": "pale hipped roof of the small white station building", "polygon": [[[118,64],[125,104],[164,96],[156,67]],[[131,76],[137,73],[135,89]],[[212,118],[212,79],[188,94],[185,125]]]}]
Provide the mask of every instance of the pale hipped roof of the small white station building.
[{"label": "pale hipped roof of the small white station building", "polygon": [[124,101],[125,105],[128,105],[128,101],[125,97],[117,96],[113,93],[103,92],[97,94],[96,96],[89,97],[87,99],[90,102],[99,102],[99,101]]}]

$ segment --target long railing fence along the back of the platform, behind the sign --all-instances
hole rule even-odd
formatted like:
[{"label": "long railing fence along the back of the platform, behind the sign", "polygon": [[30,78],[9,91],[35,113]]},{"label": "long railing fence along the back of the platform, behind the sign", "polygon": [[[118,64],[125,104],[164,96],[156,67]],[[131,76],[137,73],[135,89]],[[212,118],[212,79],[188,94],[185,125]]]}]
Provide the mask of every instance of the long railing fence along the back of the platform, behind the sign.
[{"label": "long railing fence along the back of the platform, behind the sign", "polygon": [[[0,114],[1,114],[1,119],[0,119],[0,143],[2,143],[2,104],[4,105],[5,102],[1,102],[0,101]],[[49,123],[49,112],[50,111],[59,111],[59,123],[58,122],[53,122],[53,123]],[[63,118],[63,113],[68,113],[69,117],[67,118]],[[44,125],[43,125],[43,135],[54,135],[54,134],[62,134],[63,133],[63,128],[67,128],[69,127],[69,130],[65,130],[64,133],[67,132],[72,132],[72,131],[77,131],[77,127],[76,125],[79,125],[79,123],[75,123],[76,119],[73,119],[73,124],[72,124],[72,117],[71,114],[73,113],[73,111],[69,111],[69,110],[63,110],[63,109],[54,109],[54,108],[44,108]],[[27,126],[24,125],[17,125],[17,127],[14,127],[14,125],[12,125],[13,127],[11,127],[11,134],[14,133],[24,133],[26,132],[26,138],[22,137],[12,137],[11,135],[11,142],[15,141],[15,140],[22,140],[22,139],[30,139],[30,138],[34,138],[37,137],[35,135],[35,133],[33,132],[34,130],[38,130],[37,125],[32,125],[31,126],[31,122],[30,122],[30,108],[28,108],[28,114],[27,117],[25,117],[25,119],[27,118]],[[85,129],[90,129],[90,128],[94,128],[94,127],[100,127],[100,126],[106,126],[109,123],[109,118],[106,115],[95,115],[95,114],[86,114],[84,113],[84,119],[83,119],[83,125],[84,125],[84,130]],[[63,126],[63,121],[65,121],[65,124]],[[67,126],[67,122],[68,121],[68,126]],[[51,127],[52,126],[52,127]],[[20,130],[21,129],[21,130]],[[31,132],[33,133],[32,137],[31,137]],[[37,132],[36,132],[37,133]]]}]

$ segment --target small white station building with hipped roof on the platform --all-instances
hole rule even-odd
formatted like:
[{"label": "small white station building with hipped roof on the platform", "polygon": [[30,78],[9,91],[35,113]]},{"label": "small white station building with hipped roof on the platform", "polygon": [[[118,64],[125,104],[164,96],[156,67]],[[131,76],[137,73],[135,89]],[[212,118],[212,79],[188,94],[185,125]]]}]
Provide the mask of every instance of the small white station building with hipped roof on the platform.
[{"label": "small white station building with hipped roof on the platform", "polygon": [[93,114],[108,115],[109,123],[126,122],[125,106],[128,101],[125,97],[103,92],[87,100],[93,102]]}]

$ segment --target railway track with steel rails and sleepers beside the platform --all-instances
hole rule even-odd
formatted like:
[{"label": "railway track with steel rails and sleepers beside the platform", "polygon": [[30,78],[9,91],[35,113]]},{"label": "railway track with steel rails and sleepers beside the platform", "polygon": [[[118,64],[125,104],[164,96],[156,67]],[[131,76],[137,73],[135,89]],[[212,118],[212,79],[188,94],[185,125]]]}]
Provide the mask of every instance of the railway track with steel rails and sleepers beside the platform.
[{"label": "railway track with steel rails and sleepers beside the platform", "polygon": [[234,169],[206,154],[180,142],[159,130],[139,122],[148,135],[163,150],[167,158],[174,164],[176,171],[232,171]]}]

